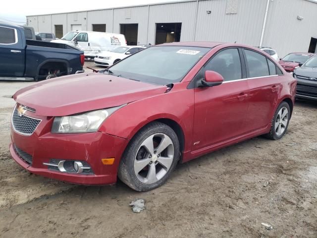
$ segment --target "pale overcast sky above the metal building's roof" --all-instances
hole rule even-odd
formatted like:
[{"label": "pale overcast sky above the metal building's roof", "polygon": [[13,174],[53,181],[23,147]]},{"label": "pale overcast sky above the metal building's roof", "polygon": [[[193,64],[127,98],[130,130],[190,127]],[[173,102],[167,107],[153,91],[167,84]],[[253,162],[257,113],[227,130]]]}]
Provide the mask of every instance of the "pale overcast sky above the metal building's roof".
[{"label": "pale overcast sky above the metal building's roof", "polygon": [[[27,15],[83,11],[166,1],[179,0],[3,0],[0,7],[0,21],[10,21],[16,24],[24,24],[26,23],[25,16]],[[89,2],[93,3],[90,4]]]}]

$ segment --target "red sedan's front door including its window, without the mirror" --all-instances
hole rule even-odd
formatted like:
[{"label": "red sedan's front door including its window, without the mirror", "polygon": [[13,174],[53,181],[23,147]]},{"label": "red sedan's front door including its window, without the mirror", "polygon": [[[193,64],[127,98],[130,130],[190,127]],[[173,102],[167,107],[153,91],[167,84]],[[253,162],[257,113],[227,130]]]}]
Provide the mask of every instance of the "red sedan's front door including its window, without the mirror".
[{"label": "red sedan's front door including its window, without the mirror", "polygon": [[214,87],[195,88],[193,151],[216,146],[245,133],[249,105],[249,86],[242,52],[221,50],[196,75],[201,80],[206,70],[220,73],[224,82]]}]

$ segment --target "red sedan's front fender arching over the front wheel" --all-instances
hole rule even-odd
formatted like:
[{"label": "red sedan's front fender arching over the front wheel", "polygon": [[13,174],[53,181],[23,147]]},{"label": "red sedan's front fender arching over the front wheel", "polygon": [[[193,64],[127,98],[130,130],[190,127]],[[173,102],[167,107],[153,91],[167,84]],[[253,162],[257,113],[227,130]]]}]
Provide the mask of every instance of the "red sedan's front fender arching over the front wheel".
[{"label": "red sedan's front fender arching over the front wheel", "polygon": [[185,137],[185,150],[191,146],[194,122],[194,90],[188,83],[177,83],[168,93],[129,103],[113,113],[99,128],[100,131],[118,137],[132,137],[146,124],[157,119],[177,122]]}]

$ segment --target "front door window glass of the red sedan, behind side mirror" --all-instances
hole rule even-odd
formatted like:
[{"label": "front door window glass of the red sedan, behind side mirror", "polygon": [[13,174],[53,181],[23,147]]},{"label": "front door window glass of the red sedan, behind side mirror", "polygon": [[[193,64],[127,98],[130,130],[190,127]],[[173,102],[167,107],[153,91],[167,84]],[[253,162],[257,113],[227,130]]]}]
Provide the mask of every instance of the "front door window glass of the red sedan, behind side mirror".
[{"label": "front door window glass of the red sedan, behind side mirror", "polygon": [[206,70],[212,70],[222,75],[224,81],[242,78],[241,61],[238,49],[228,49],[219,52],[205,66]]}]

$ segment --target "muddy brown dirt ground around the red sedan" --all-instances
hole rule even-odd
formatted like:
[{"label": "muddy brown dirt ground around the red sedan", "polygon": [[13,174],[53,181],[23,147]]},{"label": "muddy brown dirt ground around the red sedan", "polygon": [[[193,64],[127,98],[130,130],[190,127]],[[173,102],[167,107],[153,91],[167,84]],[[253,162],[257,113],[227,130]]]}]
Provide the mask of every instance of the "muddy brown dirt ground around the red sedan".
[{"label": "muddy brown dirt ground around the red sedan", "polygon": [[[317,238],[316,102],[297,101],[281,140],[257,137],[180,164],[140,193],[120,181],[42,178],[11,159],[9,96],[32,83],[0,82],[1,238]],[[129,207],[136,198],[146,201],[140,214]]]}]

